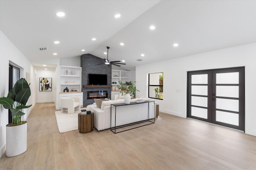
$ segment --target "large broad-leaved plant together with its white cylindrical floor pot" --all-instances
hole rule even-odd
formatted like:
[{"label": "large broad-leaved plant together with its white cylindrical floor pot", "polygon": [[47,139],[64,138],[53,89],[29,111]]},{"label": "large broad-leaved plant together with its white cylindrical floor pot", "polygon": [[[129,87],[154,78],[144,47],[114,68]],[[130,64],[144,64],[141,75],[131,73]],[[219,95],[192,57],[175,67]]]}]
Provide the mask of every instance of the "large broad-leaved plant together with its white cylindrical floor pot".
[{"label": "large broad-leaved plant together with its white cylindrical floor pot", "polygon": [[13,121],[6,125],[7,157],[22,154],[27,150],[27,122],[21,121],[21,116],[25,114],[22,109],[32,106],[26,106],[31,94],[29,85],[25,78],[21,78],[14,84],[7,97],[0,98],[0,104],[5,109],[10,109]]}]

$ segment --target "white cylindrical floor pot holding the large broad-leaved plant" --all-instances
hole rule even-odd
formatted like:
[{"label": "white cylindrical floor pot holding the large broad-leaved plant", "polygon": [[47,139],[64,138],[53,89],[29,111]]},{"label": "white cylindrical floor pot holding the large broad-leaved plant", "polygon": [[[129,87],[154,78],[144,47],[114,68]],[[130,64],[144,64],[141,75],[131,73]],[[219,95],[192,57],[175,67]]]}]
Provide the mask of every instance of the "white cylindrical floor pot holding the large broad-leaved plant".
[{"label": "white cylindrical floor pot holding the large broad-leaved plant", "polygon": [[27,123],[6,126],[6,156],[17,156],[27,150]]}]

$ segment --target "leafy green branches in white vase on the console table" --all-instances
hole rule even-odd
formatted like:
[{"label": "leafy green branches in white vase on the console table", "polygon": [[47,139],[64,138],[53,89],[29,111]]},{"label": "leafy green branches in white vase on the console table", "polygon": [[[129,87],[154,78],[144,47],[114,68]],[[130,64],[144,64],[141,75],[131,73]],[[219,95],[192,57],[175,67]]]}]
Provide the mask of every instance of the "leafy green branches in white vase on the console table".
[{"label": "leafy green branches in white vase on the console table", "polygon": [[131,95],[135,96],[136,91],[139,92],[140,90],[137,90],[134,86],[135,82],[125,82],[122,83],[122,81],[119,81],[119,85],[117,86],[118,89],[121,90],[122,96],[124,95],[124,103],[130,104],[131,101]]}]

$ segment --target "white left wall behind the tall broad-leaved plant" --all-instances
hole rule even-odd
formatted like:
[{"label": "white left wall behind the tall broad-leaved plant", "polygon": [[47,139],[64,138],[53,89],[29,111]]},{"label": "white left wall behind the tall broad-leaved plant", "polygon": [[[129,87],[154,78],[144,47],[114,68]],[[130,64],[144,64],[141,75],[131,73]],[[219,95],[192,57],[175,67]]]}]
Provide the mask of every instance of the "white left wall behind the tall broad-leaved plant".
[{"label": "white left wall behind the tall broad-leaved plant", "polygon": [[[31,96],[27,102],[27,105],[35,103],[34,88],[34,67],[30,61],[15,47],[14,44],[0,31],[0,97],[7,96],[8,94],[8,70],[9,63],[12,62],[18,65],[20,69],[20,78],[26,78],[26,72],[30,73],[30,89]],[[32,106],[32,107],[33,107]],[[22,120],[26,120],[32,107],[24,109],[24,116]],[[6,125],[8,124],[8,110],[0,106],[0,156],[6,150]]]}]

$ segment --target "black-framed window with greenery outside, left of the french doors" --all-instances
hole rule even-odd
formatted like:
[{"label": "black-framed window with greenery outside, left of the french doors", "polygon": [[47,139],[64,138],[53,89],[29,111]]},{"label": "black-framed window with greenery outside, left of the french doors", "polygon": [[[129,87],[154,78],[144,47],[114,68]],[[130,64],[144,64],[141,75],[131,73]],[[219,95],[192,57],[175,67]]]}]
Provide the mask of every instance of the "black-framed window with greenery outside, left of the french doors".
[{"label": "black-framed window with greenery outside, left of the french doors", "polygon": [[148,97],[163,100],[164,73],[148,74]]}]

